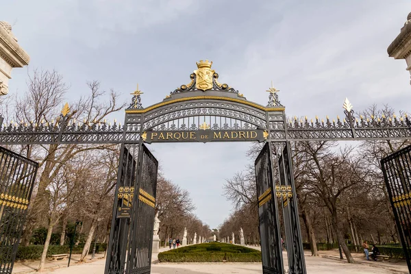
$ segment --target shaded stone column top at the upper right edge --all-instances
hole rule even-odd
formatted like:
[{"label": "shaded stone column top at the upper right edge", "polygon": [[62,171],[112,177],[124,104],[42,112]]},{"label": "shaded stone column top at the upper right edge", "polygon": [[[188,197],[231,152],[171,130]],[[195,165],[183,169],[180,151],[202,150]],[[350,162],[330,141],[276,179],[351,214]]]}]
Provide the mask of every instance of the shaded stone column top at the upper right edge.
[{"label": "shaded stone column top at the upper right edge", "polygon": [[410,71],[411,74],[411,12],[408,14],[407,21],[401,28],[401,32],[391,42],[387,51],[390,57],[405,59],[407,63],[406,70]]}]

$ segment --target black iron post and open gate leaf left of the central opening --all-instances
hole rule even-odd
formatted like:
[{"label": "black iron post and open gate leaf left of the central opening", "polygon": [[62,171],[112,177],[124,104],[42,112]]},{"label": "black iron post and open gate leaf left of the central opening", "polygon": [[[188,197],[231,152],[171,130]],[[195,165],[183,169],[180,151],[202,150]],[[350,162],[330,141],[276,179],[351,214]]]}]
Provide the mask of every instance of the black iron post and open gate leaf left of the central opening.
[{"label": "black iron post and open gate leaf left of the central opening", "polygon": [[157,172],[145,145],[123,145],[106,274],[150,273]]}]

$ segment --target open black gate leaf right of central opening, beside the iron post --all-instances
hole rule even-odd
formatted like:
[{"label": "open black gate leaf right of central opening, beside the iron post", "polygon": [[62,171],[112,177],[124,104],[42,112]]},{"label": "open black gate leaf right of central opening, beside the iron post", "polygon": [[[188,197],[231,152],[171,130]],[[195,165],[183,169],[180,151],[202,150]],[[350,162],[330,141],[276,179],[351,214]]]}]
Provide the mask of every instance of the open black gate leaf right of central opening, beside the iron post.
[{"label": "open black gate leaf right of central opening, beside the iron post", "polygon": [[283,274],[282,245],[274,195],[271,153],[271,144],[266,142],[255,162],[262,271],[263,274]]}]

